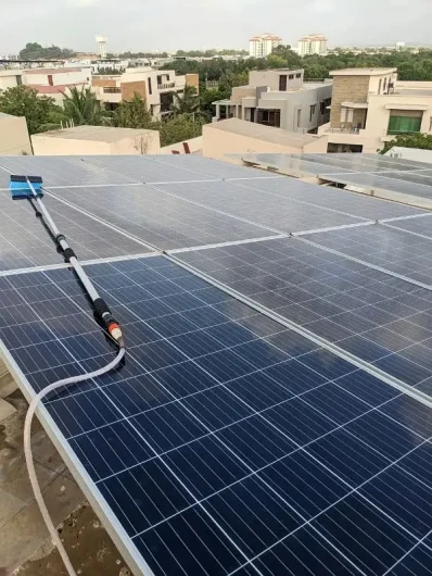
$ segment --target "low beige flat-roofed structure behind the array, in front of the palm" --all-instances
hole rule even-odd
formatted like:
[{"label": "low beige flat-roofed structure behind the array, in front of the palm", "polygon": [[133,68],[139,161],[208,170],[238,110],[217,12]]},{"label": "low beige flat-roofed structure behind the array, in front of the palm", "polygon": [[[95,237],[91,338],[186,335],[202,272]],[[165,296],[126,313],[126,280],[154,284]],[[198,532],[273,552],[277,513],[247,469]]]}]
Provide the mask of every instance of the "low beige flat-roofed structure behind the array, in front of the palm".
[{"label": "low beige flat-roofed structure behind the array, in front of the palm", "polygon": [[158,154],[157,130],[76,126],[31,136],[37,155]]}]

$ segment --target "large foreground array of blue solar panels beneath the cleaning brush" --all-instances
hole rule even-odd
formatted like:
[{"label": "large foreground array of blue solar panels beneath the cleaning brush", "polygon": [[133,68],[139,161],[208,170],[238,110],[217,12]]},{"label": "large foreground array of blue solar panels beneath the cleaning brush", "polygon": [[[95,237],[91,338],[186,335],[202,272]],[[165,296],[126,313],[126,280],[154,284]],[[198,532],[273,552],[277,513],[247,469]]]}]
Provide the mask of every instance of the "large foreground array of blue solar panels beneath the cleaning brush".
[{"label": "large foreground array of blue solar panels beneath the cleaning brush", "polygon": [[[137,574],[430,574],[428,212],[199,156],[0,165],[43,176],[124,327],[123,364],[40,418]],[[0,195],[0,338],[31,398],[115,350]]]}]

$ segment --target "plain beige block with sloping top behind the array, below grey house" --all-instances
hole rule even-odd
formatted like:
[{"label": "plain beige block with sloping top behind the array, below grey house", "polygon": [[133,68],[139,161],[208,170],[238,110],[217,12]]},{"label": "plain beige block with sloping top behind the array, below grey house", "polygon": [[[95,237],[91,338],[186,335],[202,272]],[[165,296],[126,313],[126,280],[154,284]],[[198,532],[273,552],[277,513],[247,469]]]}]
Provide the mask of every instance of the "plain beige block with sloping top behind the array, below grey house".
[{"label": "plain beige block with sloping top behind the array, below grey house", "polygon": [[[249,153],[322,153],[327,138],[230,118],[203,126],[203,155],[241,163]],[[231,155],[230,155],[231,154]]]}]

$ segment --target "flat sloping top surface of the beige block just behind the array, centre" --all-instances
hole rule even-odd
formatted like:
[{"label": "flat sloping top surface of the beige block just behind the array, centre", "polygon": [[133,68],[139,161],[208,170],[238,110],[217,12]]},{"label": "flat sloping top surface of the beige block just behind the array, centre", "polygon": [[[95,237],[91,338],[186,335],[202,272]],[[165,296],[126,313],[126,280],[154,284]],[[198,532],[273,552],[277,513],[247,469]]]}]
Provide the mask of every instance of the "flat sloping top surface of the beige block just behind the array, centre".
[{"label": "flat sloping top surface of the beige block just behind the array, centre", "polygon": [[281,128],[264,126],[263,124],[255,124],[254,122],[246,122],[239,118],[223,120],[208,124],[208,126],[217,130],[249,136],[250,138],[266,140],[267,142],[291,146],[300,150],[303,149],[305,143],[314,142],[318,138],[312,134],[282,130]]}]

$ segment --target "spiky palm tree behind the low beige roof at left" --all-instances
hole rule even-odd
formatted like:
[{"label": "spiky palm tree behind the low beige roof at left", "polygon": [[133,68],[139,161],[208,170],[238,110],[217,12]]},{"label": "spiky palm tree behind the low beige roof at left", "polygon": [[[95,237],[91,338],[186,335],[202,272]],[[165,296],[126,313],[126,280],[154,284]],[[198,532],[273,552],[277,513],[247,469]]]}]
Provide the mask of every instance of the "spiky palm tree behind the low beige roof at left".
[{"label": "spiky palm tree behind the low beige roof at left", "polygon": [[80,90],[74,86],[71,93],[64,92],[63,109],[58,108],[50,115],[50,123],[46,129],[59,127],[73,121],[75,126],[110,126],[111,115],[104,111],[101,103],[90,88]]}]

